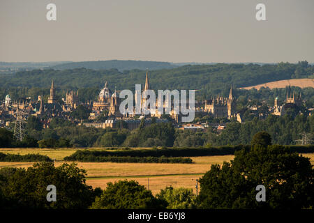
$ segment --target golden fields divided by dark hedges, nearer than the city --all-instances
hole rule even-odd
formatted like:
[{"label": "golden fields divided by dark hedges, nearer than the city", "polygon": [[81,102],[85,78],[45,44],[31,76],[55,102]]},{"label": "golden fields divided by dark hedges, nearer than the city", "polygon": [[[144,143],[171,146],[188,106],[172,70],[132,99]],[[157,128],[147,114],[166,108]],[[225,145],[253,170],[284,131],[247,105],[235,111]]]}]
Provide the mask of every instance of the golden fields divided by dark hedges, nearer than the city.
[{"label": "golden fields divided by dark hedges, nearer than the city", "polygon": [[[95,148],[93,148],[95,149]],[[63,163],[63,157],[74,153],[71,149],[40,149],[40,148],[0,148],[1,153],[25,155],[39,153],[56,159],[55,165]],[[304,154],[311,158],[314,164],[314,153]],[[114,162],[77,162],[77,166],[87,170],[87,184],[105,189],[108,182],[117,180],[137,180],[141,185],[148,187],[156,194],[166,186],[188,187],[195,191],[196,179],[207,172],[211,164],[230,162],[233,155],[216,155],[207,157],[190,157],[193,164],[160,164],[160,163],[114,163]],[[31,167],[32,162],[0,162],[3,167]],[[149,182],[148,182],[149,181]]]}]

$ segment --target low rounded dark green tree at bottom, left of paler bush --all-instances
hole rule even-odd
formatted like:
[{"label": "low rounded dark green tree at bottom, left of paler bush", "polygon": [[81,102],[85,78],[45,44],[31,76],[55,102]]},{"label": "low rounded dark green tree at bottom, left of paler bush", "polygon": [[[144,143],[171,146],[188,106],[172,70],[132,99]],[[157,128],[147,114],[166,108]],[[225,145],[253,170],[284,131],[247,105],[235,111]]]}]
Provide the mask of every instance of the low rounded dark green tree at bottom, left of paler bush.
[{"label": "low rounded dark green tree at bottom, left of paler bush", "polygon": [[107,183],[106,190],[96,197],[91,206],[94,209],[142,209],[165,208],[167,203],[156,199],[150,190],[135,180],[119,180],[117,183]]}]

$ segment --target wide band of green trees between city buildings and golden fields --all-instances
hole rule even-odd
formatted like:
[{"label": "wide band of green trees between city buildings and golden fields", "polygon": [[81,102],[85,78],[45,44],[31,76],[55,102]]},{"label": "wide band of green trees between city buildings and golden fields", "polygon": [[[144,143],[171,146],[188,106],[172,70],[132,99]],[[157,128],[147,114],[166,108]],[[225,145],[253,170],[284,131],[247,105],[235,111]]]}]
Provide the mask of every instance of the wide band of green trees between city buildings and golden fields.
[{"label": "wide band of green trees between city buildings and golden fields", "polygon": [[[212,123],[209,117],[200,118],[202,122]],[[172,123],[152,123],[130,131],[119,125],[117,128],[88,128],[74,125],[61,118],[52,118],[50,128],[43,128],[40,120],[31,116],[25,128],[27,137],[16,141],[13,132],[0,128],[0,146],[5,147],[197,147],[197,146],[236,146],[248,145],[253,135],[260,131],[271,134],[274,144],[300,144],[302,134],[313,140],[314,116],[286,114],[269,115],[267,118],[248,118],[244,123],[227,121],[225,129],[219,133],[214,126],[204,130],[179,130]],[[218,120],[219,121],[219,120]],[[219,122],[218,122],[219,123]],[[310,141],[311,144],[311,141]]]}]

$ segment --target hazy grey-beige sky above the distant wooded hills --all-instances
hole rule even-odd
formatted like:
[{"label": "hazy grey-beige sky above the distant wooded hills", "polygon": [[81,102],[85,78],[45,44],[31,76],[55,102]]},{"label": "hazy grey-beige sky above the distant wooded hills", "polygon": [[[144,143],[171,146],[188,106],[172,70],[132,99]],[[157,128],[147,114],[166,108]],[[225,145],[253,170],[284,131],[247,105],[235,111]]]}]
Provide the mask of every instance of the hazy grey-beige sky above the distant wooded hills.
[{"label": "hazy grey-beige sky above the distant wooded hills", "polygon": [[[257,3],[267,21],[255,19]],[[0,61],[314,62],[313,8],[313,0],[1,0]]]}]

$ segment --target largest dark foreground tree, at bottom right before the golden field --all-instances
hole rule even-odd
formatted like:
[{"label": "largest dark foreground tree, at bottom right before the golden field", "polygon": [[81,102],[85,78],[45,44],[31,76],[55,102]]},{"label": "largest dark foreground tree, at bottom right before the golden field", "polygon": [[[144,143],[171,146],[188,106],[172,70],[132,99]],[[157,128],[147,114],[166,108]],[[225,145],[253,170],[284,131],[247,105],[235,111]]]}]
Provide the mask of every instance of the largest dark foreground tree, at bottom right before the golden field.
[{"label": "largest dark foreground tree, at bottom right before the golden field", "polygon": [[[313,208],[314,170],[309,158],[285,146],[254,146],[234,160],[212,165],[200,179],[200,208]],[[257,185],[266,201],[257,202]]]}]

